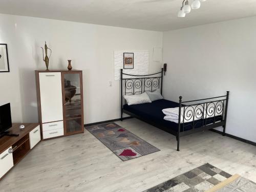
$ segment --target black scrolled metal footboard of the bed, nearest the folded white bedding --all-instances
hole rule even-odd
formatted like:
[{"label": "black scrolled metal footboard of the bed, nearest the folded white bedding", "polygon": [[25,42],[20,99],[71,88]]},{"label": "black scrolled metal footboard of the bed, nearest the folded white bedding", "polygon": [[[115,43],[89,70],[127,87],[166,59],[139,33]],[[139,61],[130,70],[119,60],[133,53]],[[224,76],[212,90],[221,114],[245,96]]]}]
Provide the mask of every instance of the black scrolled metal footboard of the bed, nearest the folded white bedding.
[{"label": "black scrolled metal footboard of the bed, nearest the folded white bedding", "polygon": [[182,101],[182,96],[179,97],[177,151],[180,151],[181,136],[219,126],[223,126],[222,135],[225,136],[228,98],[229,91],[224,96],[191,101]]}]

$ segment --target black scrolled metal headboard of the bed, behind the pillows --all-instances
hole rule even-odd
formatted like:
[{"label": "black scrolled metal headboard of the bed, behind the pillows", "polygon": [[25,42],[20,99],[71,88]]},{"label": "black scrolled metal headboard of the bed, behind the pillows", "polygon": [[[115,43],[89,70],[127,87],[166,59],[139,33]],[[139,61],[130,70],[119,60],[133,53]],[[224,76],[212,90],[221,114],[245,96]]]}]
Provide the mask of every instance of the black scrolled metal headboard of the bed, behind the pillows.
[{"label": "black scrolled metal headboard of the bed, behind the pillows", "polygon": [[145,91],[161,90],[163,87],[163,68],[160,72],[149,75],[131,75],[121,69],[121,105],[124,95],[142,94]]}]

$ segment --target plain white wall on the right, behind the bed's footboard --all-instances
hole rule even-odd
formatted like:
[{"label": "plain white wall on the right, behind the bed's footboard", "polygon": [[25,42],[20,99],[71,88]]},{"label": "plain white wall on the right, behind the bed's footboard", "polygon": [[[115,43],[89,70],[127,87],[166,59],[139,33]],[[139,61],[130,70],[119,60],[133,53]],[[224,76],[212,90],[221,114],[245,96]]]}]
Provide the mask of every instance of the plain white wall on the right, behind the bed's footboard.
[{"label": "plain white wall on the right, behind the bed's footboard", "polygon": [[256,17],[164,32],[165,98],[230,91],[228,134],[256,142]]}]

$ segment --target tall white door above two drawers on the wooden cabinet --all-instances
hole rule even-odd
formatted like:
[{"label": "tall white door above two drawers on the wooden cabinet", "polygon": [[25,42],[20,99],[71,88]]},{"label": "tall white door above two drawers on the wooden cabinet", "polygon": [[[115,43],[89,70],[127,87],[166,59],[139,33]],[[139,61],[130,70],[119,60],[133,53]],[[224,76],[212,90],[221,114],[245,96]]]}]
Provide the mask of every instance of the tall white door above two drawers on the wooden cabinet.
[{"label": "tall white door above two drawers on the wooden cabinet", "polygon": [[39,73],[42,123],[63,120],[61,73]]}]

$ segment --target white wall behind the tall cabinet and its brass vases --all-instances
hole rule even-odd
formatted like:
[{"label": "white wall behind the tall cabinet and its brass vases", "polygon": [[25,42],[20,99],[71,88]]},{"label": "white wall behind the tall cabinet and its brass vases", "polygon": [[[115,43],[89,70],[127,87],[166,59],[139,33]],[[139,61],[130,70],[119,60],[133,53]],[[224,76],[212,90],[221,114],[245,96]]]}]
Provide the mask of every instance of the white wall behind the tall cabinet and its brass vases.
[{"label": "white wall behind the tall cabinet and its brass vases", "polygon": [[13,122],[37,122],[34,70],[45,69],[45,40],[53,51],[49,69],[67,69],[72,59],[73,69],[83,70],[85,123],[120,118],[114,50],[148,50],[150,72],[161,68],[153,62],[153,47],[162,47],[162,32],[0,14],[11,71],[0,73],[0,104],[11,103]]}]

